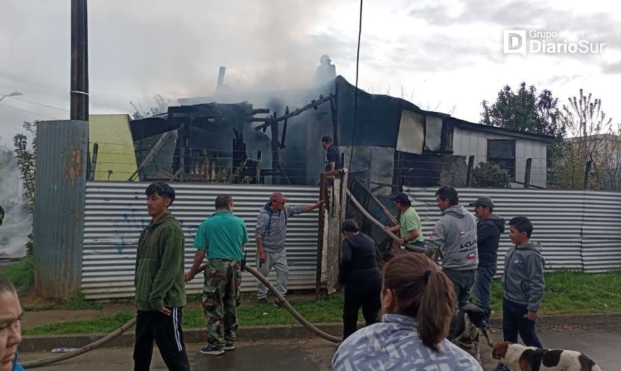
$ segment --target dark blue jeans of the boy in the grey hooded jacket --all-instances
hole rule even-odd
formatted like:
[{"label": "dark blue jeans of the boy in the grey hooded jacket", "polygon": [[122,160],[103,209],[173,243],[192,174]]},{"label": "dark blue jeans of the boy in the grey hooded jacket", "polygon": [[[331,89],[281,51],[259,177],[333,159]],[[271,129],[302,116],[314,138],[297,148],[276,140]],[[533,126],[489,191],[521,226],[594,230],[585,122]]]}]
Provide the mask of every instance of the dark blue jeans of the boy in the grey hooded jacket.
[{"label": "dark blue jeans of the boy in the grey hooded jacket", "polygon": [[502,298],[502,338],[504,341],[518,342],[518,333],[527,347],[543,348],[535,322],[528,319],[526,304]]}]

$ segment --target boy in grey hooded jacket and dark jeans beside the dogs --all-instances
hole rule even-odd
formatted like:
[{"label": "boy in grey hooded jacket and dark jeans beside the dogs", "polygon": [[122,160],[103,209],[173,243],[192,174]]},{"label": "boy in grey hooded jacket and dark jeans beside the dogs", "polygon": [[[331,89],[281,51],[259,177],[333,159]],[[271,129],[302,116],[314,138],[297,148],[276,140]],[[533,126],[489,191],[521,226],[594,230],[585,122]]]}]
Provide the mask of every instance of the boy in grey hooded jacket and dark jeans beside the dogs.
[{"label": "boy in grey hooded jacket and dark jeans beside the dogs", "polygon": [[502,275],[502,337],[527,347],[541,348],[535,332],[537,311],[544,299],[544,264],[541,244],[531,242],[532,223],[525,216],[509,221],[509,238],[514,243],[504,255]]}]

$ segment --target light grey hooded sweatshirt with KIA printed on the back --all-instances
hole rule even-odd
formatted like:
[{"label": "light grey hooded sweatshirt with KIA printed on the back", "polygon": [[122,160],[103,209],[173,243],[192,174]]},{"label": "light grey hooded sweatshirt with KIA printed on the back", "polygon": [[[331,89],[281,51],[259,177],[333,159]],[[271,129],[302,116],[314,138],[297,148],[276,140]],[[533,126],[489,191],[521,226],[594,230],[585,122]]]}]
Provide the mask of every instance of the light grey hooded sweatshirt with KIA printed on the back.
[{"label": "light grey hooded sweatshirt with KIA printed on the back", "polygon": [[440,250],[442,269],[477,269],[477,219],[462,205],[448,207],[433,226],[425,249],[428,253]]}]

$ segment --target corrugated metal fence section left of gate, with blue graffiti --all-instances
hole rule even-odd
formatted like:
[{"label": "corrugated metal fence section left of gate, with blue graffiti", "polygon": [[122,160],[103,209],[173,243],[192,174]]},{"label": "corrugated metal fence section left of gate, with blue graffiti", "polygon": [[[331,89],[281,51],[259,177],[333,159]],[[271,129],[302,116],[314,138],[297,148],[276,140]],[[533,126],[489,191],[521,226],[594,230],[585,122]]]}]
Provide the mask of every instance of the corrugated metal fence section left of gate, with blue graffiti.
[{"label": "corrugated metal fence section left of gate, with blue graffiti", "polygon": [[[149,183],[87,182],[84,216],[84,258],[82,292],[88,299],[130,297],[134,294],[136,244],[140,232],[151,218],[146,210],[144,189]],[[172,184],[177,194],[172,207],[186,235],[186,268],[192,264],[196,228],[214,212],[218,194],[229,194],[234,213],[246,221],[250,243],[246,245],[248,264],[255,266],[254,228],[260,207],[272,191],[282,191],[292,205],[315,203],[318,187],[271,186],[257,184]],[[289,219],[287,256],[291,289],[315,287],[317,256],[317,211]],[[250,274],[244,274],[241,290],[256,290]],[[272,272],[270,277],[275,278]],[[202,276],[187,285],[188,292],[199,292]]]}]

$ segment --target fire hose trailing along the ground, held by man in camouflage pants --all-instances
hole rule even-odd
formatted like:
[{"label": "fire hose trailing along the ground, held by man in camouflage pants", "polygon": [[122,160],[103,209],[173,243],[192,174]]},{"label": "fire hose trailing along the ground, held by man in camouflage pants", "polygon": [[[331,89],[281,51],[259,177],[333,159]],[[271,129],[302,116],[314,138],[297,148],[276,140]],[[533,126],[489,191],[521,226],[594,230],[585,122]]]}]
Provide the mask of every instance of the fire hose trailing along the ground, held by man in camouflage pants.
[{"label": "fire hose trailing along the ground, held by man in camouflage pants", "polygon": [[[201,271],[204,271],[204,269],[205,269],[205,265],[202,265],[198,273],[200,273]],[[297,319],[297,321],[300,324],[302,324],[304,327],[306,327],[306,329],[308,329],[310,332],[314,333],[320,338],[324,338],[325,340],[328,340],[331,342],[341,342],[342,340],[341,338],[337,338],[336,336],[332,336],[329,333],[325,333],[324,331],[317,329],[317,327],[313,326],[313,324],[308,322],[304,317],[302,317],[299,313],[297,313],[297,310],[295,310],[291,306],[291,304],[287,301],[287,299],[285,299],[285,297],[283,297],[283,295],[278,293],[278,290],[276,290],[276,287],[274,287],[274,285],[272,285],[269,281],[267,281],[267,278],[265,278],[262,274],[260,274],[259,271],[257,271],[257,269],[255,269],[254,267],[250,267],[249,265],[246,265],[244,270],[252,274],[253,276],[255,276],[259,281],[261,281],[272,292],[272,294],[276,296],[276,299],[278,299],[280,303],[282,303],[283,306],[285,306],[285,309],[287,309],[289,313],[291,313],[291,315],[293,315],[293,317]],[[119,327],[119,329],[117,329],[116,331],[109,333],[107,336],[104,336],[103,338],[100,338],[96,342],[92,342],[89,345],[85,345],[84,347],[81,347],[80,349],[74,350],[72,352],[59,354],[57,356],[51,356],[47,358],[37,359],[34,361],[23,362],[22,366],[24,366],[24,368],[26,369],[43,367],[46,365],[51,365],[52,363],[65,361],[67,359],[91,352],[91,350],[97,349],[98,347],[104,345],[105,343],[118,338],[119,336],[121,336],[121,334],[131,329],[135,324],[136,324],[136,319],[133,318],[129,322],[124,324],[123,326]]]}]

